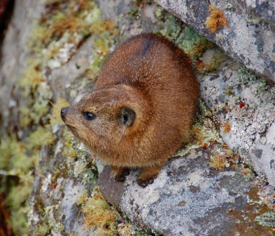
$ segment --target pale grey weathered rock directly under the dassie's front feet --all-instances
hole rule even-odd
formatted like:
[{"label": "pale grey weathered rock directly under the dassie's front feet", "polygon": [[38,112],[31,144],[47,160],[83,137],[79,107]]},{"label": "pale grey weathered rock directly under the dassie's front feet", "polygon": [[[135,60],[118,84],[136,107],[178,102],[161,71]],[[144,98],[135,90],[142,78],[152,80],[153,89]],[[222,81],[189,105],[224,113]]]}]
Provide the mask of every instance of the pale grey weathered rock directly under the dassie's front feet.
[{"label": "pale grey weathered rock directly under the dassie's front feet", "polygon": [[[263,208],[251,199],[254,183],[231,168],[210,169],[209,151],[210,148],[192,149],[184,157],[170,159],[145,188],[136,183],[139,171],[131,171],[121,187],[120,182],[109,177],[112,174],[108,167],[100,168],[101,191],[109,199],[109,189],[116,189],[111,202],[120,205],[133,222],[163,235],[235,235],[241,232],[240,225],[248,223],[250,228],[244,226],[242,232],[272,235],[270,228],[248,217],[250,211]],[[235,214],[240,215],[239,220]]]}]

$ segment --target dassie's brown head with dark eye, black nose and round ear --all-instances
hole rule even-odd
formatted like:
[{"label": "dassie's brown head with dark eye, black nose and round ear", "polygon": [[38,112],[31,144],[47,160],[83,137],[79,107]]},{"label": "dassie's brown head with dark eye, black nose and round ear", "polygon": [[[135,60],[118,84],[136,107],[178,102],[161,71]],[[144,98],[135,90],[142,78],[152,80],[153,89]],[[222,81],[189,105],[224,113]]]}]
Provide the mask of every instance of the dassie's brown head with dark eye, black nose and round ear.
[{"label": "dassie's brown head with dark eye, black nose and round ear", "polygon": [[143,109],[138,96],[125,85],[97,89],[63,107],[61,118],[77,138],[103,157],[138,129]]}]

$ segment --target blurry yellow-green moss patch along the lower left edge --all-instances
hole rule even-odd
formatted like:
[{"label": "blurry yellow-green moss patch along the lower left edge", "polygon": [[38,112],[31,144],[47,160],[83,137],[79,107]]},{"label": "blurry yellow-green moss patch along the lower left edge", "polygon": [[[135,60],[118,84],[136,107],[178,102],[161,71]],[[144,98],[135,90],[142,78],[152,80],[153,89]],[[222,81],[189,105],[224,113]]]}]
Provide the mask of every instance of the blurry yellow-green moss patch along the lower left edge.
[{"label": "blurry yellow-green moss patch along the lower left edge", "polygon": [[[25,235],[28,231],[26,214],[28,211],[28,196],[32,189],[33,171],[38,152],[30,149],[27,154],[26,143],[19,142],[14,136],[2,140],[0,144],[0,169],[12,172],[16,178],[2,178],[1,191],[8,193],[6,205],[10,210],[12,228],[16,235]],[[28,151],[29,152],[29,151]]]}]

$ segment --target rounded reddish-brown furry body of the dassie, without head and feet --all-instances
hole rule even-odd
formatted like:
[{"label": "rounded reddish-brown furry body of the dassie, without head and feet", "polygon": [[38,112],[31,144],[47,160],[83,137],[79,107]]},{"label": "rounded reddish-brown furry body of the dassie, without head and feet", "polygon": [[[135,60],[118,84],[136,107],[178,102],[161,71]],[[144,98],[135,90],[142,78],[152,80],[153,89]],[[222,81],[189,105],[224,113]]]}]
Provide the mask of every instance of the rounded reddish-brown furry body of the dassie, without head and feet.
[{"label": "rounded reddish-brown furry body of the dassie, without head and feet", "polygon": [[141,122],[118,146],[113,165],[146,166],[166,161],[186,140],[199,87],[189,57],[167,39],[151,33],[133,36],[105,62],[94,89],[127,85],[139,93]]}]

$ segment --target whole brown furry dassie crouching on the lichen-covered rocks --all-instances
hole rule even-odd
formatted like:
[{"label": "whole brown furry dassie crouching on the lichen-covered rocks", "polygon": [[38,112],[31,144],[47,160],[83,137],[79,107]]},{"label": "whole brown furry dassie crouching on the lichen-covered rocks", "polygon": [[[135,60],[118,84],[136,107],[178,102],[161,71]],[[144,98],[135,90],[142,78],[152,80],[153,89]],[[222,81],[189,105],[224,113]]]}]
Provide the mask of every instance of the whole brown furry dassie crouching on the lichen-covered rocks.
[{"label": "whole brown furry dassie crouching on the lichen-covered rocks", "polygon": [[110,53],[93,91],[63,107],[61,117],[116,180],[140,167],[137,183],[145,187],[187,140],[198,96],[189,57],[164,37],[142,33]]}]

